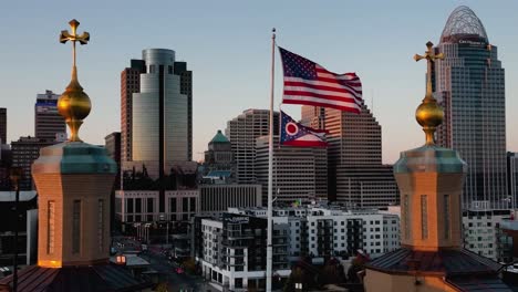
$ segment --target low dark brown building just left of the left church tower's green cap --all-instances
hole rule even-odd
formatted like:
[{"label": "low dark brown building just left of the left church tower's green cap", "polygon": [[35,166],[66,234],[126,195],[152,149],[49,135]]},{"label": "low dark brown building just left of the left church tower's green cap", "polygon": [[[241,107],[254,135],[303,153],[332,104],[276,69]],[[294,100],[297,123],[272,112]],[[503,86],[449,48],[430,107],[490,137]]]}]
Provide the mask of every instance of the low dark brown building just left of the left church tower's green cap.
[{"label": "low dark brown building just left of the left church tower's green cap", "polygon": [[42,139],[37,137],[20,137],[11,142],[12,167],[21,167],[23,176],[20,180],[20,189],[32,190],[32,163],[40,157],[40,149],[55,144],[55,140]]}]

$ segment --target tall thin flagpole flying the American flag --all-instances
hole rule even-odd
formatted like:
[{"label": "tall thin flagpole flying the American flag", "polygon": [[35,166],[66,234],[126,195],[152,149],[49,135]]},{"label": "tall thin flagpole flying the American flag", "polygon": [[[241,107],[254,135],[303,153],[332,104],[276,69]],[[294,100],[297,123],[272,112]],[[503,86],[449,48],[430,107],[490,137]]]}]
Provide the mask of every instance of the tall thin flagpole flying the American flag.
[{"label": "tall thin flagpole flying the American flag", "polygon": [[274,62],[276,62],[276,29],[271,30],[271,92],[270,92],[270,135],[268,137],[268,240],[267,240],[267,285],[266,291],[271,292],[272,274],[272,233],[273,233],[273,82],[274,82]]}]

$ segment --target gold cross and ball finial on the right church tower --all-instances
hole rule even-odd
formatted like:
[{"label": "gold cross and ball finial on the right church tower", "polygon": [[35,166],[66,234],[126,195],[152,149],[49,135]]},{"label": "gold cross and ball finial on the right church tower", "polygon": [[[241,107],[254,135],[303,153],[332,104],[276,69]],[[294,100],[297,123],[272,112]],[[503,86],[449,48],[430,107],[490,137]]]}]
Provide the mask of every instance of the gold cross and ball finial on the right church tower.
[{"label": "gold cross and ball finial on the right church tower", "polygon": [[435,60],[444,59],[444,54],[434,54],[433,46],[434,44],[432,42],[427,42],[426,48],[428,48],[428,50],[425,52],[425,54],[414,55],[415,61],[426,59],[428,65],[428,71],[426,72],[426,96],[415,111],[415,118],[417,119],[417,123],[419,123],[419,125],[423,126],[423,131],[426,135],[426,145],[428,146],[435,144],[435,129],[443,123],[444,117],[443,108],[437,104],[437,101],[435,101],[434,95],[432,93],[433,64]]}]

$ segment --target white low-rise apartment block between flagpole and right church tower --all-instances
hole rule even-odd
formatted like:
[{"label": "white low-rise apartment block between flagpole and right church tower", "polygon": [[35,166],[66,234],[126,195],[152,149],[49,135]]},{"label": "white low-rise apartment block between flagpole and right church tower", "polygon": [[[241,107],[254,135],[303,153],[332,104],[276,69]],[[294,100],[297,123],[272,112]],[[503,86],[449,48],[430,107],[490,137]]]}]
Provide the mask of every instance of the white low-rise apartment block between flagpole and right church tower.
[{"label": "white low-rise apartment block between flagpole and right church tower", "polygon": [[[267,217],[266,208],[228,208],[228,212]],[[359,249],[377,258],[400,248],[400,218],[377,210],[348,210],[324,205],[274,208],[274,222],[288,222],[288,255],[350,257]]]}]

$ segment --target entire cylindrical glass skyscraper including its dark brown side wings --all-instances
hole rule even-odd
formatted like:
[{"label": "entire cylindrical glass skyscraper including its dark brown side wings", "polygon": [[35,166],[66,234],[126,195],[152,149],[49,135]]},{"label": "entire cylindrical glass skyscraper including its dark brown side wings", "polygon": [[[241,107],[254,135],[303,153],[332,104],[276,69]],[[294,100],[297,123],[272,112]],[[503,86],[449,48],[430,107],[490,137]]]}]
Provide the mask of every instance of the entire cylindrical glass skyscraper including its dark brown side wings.
[{"label": "entire cylindrical glass skyscraper including its dark brown side wings", "polygon": [[[121,79],[122,169],[131,178],[123,188],[158,189],[157,211],[164,213],[166,190],[195,187],[184,185],[185,174],[196,176],[196,163],[190,161],[191,72],[175,61],[175,51],[147,49]],[[132,184],[135,177],[145,181]]]}]

